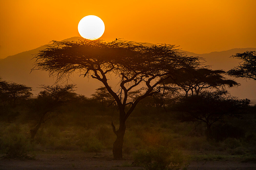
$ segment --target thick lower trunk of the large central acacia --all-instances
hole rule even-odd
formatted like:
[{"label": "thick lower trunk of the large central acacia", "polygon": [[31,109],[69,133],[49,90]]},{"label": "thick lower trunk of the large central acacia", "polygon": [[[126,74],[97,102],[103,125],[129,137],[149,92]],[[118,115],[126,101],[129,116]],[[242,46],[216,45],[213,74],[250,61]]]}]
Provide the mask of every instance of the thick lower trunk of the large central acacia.
[{"label": "thick lower trunk of the large central acacia", "polygon": [[123,159],[123,142],[124,142],[124,133],[125,133],[125,122],[120,124],[119,129],[116,131],[116,140],[113,144],[113,155],[115,160]]}]

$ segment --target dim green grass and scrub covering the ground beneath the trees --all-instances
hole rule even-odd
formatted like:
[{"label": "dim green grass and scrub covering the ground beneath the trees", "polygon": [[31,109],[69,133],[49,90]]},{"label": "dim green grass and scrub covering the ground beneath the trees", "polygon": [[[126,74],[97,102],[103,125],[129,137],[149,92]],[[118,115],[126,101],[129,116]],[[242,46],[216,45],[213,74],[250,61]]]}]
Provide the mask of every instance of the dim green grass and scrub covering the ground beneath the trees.
[{"label": "dim green grass and scrub covering the ground beneath the trees", "polygon": [[[110,122],[119,121],[115,106],[102,106],[101,101],[95,101],[93,98],[75,98],[71,103],[60,107],[57,117],[51,117],[51,121],[42,123],[33,142],[30,142],[30,129],[34,123],[27,120],[30,113],[27,112],[26,105],[9,109],[15,112],[21,108],[24,111],[14,119],[1,120],[2,156],[24,158],[33,151],[44,150],[82,150],[99,153],[113,147],[115,135],[112,133]],[[167,107],[167,111],[169,108]],[[209,141],[206,140],[204,124],[178,122],[174,119],[176,114],[179,113],[166,112],[164,108],[145,107],[142,102],[127,121],[124,155],[134,158],[136,165],[147,166],[149,169],[158,166],[170,168],[174,166],[172,163],[177,167],[185,166],[186,162],[191,160],[248,161],[255,157],[254,114],[244,114],[243,119],[224,118],[226,124],[220,122],[212,127],[213,136],[222,129],[222,133],[219,133],[222,134],[221,138]],[[232,135],[232,129],[240,130],[242,135]],[[176,155],[177,160],[173,160],[173,155]],[[155,165],[156,159],[162,163]]]}]

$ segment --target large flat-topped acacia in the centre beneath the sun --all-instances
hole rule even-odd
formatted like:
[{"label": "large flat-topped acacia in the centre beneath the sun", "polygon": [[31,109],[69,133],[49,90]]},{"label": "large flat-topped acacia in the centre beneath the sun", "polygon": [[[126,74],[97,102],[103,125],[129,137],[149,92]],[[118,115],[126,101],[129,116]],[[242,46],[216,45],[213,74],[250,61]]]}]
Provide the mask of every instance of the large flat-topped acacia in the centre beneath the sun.
[{"label": "large flat-topped acacia in the centre beneath the sun", "polygon": [[[59,79],[73,72],[91,76],[103,83],[115,99],[119,110],[119,128],[112,124],[116,140],[113,143],[114,159],[122,159],[125,122],[139,101],[158,93],[157,87],[168,78],[177,77],[178,70],[198,67],[198,57],[188,57],[178,52],[174,45],[143,46],[127,41],[103,42],[102,40],[58,42],[47,46],[35,56],[34,69],[49,71]],[[109,85],[108,77],[115,74],[119,90]],[[128,92],[144,84],[143,93],[133,102],[127,101]]]}]

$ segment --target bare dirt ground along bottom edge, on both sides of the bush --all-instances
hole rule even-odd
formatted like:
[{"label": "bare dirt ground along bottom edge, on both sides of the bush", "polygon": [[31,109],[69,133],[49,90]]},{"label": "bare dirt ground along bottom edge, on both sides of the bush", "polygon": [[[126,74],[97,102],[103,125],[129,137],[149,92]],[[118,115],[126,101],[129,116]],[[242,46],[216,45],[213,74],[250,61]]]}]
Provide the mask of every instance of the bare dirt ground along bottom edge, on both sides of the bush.
[{"label": "bare dirt ground along bottom edge, on both sides of the bush", "polygon": [[[0,169],[143,169],[127,167],[132,159],[113,160],[111,151],[100,154],[79,151],[37,153],[36,160],[1,159]],[[256,169],[255,163],[232,161],[191,162],[187,169]]]}]

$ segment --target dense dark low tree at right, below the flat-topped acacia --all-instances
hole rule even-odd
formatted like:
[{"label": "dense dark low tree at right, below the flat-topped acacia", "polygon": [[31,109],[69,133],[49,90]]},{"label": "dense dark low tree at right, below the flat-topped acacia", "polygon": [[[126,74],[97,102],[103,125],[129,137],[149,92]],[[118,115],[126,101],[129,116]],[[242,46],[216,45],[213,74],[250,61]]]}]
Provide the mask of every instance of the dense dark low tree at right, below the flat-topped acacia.
[{"label": "dense dark low tree at right, below the flat-topped acacia", "polygon": [[217,90],[203,91],[197,96],[181,97],[173,108],[179,112],[176,118],[181,122],[205,123],[207,139],[210,139],[212,124],[227,116],[239,117],[249,103],[250,100],[237,99],[226,90]]}]

